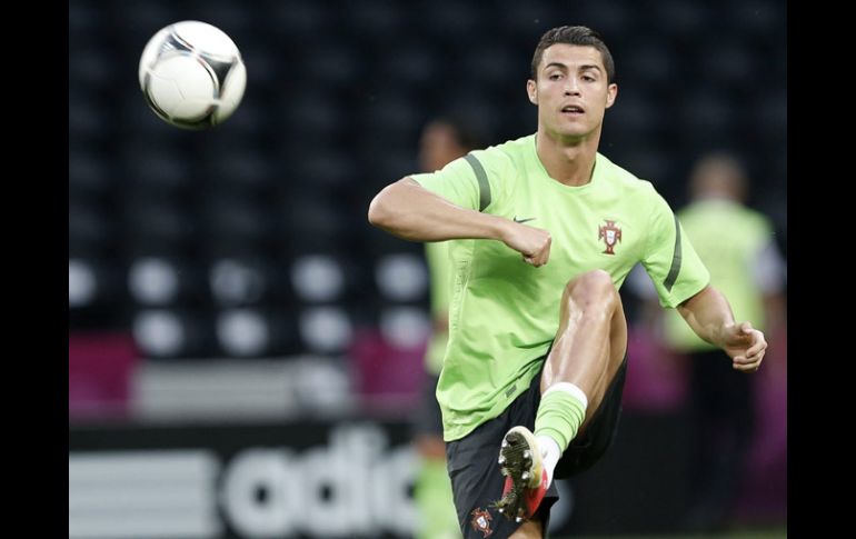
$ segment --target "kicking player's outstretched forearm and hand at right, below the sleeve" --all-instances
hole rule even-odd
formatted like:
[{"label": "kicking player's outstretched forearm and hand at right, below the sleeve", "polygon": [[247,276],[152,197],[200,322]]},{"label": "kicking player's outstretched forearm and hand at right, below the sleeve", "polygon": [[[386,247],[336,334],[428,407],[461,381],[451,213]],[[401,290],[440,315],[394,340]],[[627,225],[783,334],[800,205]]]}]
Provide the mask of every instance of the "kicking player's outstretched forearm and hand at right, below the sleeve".
[{"label": "kicking player's outstretched forearm and hand at right, below the sleeve", "polygon": [[767,350],[764,333],[749,322],[736,323],[731,307],[721,292],[708,285],[677,309],[697,336],[725,350],[735,369],[758,370]]}]

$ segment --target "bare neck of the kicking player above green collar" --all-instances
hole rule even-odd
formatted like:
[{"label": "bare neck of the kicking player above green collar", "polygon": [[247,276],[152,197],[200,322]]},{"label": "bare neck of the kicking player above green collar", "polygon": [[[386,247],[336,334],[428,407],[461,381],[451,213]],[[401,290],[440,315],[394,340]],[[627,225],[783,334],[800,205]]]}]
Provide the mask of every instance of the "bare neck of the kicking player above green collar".
[{"label": "bare neck of the kicking player above green collar", "polygon": [[566,186],[579,187],[591,181],[599,140],[599,132],[568,141],[538,129],[535,150],[550,178]]}]

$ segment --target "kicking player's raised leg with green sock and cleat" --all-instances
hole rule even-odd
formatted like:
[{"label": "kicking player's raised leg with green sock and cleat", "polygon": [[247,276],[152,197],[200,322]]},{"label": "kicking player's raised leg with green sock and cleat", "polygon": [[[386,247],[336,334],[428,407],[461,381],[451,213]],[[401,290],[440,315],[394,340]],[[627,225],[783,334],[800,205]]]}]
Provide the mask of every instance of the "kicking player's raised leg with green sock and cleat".
[{"label": "kicking player's raised leg with green sock and cleat", "polygon": [[[609,275],[595,270],[570,280],[561,297],[559,330],[541,373],[535,433],[515,427],[500,448],[506,485],[497,507],[508,518],[535,517],[556,463],[597,410],[626,349],[624,308]],[[528,537],[526,529],[521,527],[522,535],[514,537]]]}]

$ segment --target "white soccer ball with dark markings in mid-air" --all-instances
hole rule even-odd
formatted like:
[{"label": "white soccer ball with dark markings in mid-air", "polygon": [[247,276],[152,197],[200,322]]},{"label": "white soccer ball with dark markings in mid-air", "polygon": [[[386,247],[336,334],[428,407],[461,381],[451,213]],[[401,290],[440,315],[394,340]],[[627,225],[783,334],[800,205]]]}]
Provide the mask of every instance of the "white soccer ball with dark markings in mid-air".
[{"label": "white soccer ball with dark markings in mid-air", "polygon": [[247,68],[219,28],[181,21],[156,33],[140,58],[140,88],[149,107],[183,129],[206,129],[229,118],[243,97]]}]

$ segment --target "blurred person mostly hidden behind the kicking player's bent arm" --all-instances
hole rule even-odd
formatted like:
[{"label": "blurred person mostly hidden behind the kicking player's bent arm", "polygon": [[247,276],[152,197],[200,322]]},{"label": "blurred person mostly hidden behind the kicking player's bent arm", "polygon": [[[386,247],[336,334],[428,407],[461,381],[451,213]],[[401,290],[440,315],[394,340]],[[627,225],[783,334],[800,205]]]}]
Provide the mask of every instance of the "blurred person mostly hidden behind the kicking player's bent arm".
[{"label": "blurred person mostly hidden behind the kicking player's bent arm", "polygon": [[[441,117],[429,122],[419,140],[419,167],[435,172],[469,151],[482,148],[479,133],[459,118]],[[432,331],[425,353],[425,380],[420,408],[414,425],[414,440],[419,453],[419,473],[414,498],[419,511],[417,539],[451,539],[460,537],[451,481],[446,471],[446,442],[442,440],[442,417],[435,391],[442,369],[442,357],[449,340],[449,290],[451,267],[448,243],[425,243],[425,257],[430,276],[430,309]]]}]

